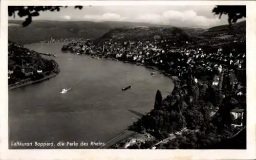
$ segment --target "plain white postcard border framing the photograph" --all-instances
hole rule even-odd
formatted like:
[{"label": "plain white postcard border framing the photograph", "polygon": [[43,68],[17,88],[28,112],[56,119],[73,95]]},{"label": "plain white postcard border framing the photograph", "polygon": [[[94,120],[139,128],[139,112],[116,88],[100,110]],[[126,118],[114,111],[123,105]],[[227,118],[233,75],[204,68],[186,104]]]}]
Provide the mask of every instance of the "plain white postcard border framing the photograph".
[{"label": "plain white postcard border framing the photograph", "polygon": [[[95,150],[8,149],[8,11],[7,6],[246,5],[247,150]],[[255,159],[256,3],[254,1],[1,1],[0,158],[1,159]],[[254,158],[253,158],[254,157]]]}]

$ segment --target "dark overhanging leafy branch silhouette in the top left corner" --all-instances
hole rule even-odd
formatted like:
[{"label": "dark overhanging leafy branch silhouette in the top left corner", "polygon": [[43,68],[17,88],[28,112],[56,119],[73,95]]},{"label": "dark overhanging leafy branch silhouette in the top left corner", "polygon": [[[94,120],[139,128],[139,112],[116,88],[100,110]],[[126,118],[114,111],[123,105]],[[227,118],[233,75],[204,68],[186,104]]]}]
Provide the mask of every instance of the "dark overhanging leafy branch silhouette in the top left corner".
[{"label": "dark overhanging leafy branch silhouette in the top left corner", "polygon": [[[22,24],[23,27],[26,27],[31,24],[33,16],[40,15],[40,11],[60,11],[62,7],[67,8],[68,6],[8,6],[8,14],[9,16],[15,17],[15,13],[17,12],[19,17],[27,16]],[[82,9],[82,6],[75,6],[75,8]]]}]

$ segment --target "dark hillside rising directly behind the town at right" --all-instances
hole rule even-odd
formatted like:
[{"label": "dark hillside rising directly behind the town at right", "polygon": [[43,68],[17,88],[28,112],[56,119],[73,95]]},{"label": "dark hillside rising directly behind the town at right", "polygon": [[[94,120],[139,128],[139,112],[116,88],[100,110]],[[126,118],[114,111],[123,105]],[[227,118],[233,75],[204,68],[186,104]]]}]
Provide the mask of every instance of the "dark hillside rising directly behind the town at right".
[{"label": "dark hillside rising directly behind the town at right", "polygon": [[[245,21],[228,25],[216,26],[209,29],[178,28],[171,26],[141,26],[111,29],[102,37],[96,39],[97,43],[112,39],[113,41],[136,41],[146,39],[173,39],[177,41],[190,41],[201,46],[215,46],[234,39],[245,40],[246,23]],[[209,41],[210,40],[210,41]]]}]

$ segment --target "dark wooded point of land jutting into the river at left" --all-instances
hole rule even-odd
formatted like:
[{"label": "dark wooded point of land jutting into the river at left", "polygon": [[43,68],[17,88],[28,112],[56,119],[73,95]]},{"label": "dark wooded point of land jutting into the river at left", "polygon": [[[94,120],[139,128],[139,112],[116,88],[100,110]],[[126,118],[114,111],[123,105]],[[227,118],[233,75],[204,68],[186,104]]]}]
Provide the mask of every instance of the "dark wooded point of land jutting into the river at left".
[{"label": "dark wooded point of land jutting into the river at left", "polygon": [[45,81],[59,73],[58,64],[17,43],[8,43],[9,89]]}]

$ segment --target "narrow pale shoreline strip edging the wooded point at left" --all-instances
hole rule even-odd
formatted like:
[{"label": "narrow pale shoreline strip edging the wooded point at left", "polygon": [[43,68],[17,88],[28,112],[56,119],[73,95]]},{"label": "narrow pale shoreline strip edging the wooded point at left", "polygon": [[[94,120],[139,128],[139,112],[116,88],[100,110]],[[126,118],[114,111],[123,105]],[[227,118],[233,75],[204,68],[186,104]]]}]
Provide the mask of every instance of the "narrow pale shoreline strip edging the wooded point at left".
[{"label": "narrow pale shoreline strip edging the wooded point at left", "polygon": [[8,89],[12,90],[12,89],[16,89],[16,88],[19,88],[19,87],[24,87],[24,86],[27,86],[27,85],[31,85],[31,84],[39,83],[39,82],[42,82],[42,81],[46,81],[50,78],[53,78],[53,77],[57,76],[60,72],[59,66],[55,61],[51,60],[51,62],[54,65],[54,69],[52,71],[50,71],[50,75],[47,75],[47,76],[45,76],[44,78],[41,78],[41,79],[37,79],[36,81],[31,81],[31,79],[27,79],[27,81],[19,82],[19,83],[14,84],[14,85],[9,85]]}]

